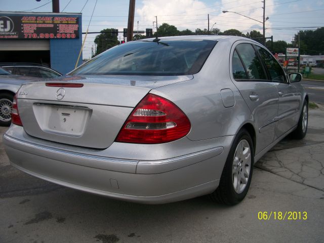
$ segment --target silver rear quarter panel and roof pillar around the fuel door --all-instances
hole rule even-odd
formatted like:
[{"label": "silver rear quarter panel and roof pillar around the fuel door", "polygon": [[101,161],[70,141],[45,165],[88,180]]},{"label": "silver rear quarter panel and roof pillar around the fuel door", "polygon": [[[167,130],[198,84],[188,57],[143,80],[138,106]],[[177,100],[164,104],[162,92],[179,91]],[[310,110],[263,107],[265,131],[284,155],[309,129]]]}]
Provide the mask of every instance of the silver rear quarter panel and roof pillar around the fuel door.
[{"label": "silver rear quarter panel and roof pillar around the fuel door", "polygon": [[[203,68],[187,82],[151,91],[174,102],[188,116],[192,141],[235,135],[247,121],[253,124],[251,112],[229,75],[229,53],[232,42],[218,42]],[[222,89],[230,89],[234,106],[224,107]]]}]

